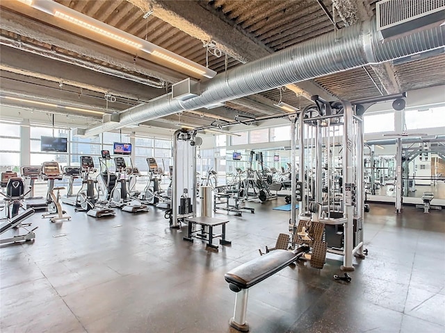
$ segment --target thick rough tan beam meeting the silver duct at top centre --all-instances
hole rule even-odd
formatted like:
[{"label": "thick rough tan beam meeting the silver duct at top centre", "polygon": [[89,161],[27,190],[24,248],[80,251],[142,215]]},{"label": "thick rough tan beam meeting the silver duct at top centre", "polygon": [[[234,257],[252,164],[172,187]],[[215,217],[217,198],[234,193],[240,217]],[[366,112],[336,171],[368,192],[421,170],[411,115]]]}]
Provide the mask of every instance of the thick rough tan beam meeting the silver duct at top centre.
[{"label": "thick rough tan beam meeting the silver duct at top centre", "polygon": [[[216,47],[240,62],[264,58],[274,50],[245,31],[222,12],[199,1],[127,0],[143,12],[153,10],[154,16],[202,42],[216,42]],[[304,85],[304,83],[303,83]],[[298,83],[298,87],[302,87]],[[307,85],[308,95],[326,96],[329,92],[316,85]],[[329,94],[330,95],[330,94]],[[330,95],[332,98],[332,95]]]}]

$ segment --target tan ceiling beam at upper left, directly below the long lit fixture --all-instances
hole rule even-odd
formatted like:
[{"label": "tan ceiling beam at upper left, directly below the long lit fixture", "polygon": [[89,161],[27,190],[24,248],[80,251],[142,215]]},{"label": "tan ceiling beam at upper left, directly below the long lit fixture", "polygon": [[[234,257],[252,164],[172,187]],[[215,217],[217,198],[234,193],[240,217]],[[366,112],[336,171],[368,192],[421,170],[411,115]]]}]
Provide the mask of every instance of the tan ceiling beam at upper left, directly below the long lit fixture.
[{"label": "tan ceiling beam at upper left, directly below the long lit fixture", "polygon": [[[98,44],[92,40],[55,28],[54,26],[56,26],[56,22],[53,22],[54,26],[36,22],[30,17],[42,17],[42,15],[46,14],[28,6],[21,6],[18,8],[17,3],[19,2],[3,1],[1,3],[1,29],[16,33],[23,37],[31,38],[32,40],[47,44],[51,47],[65,49],[76,53],[76,55],[81,57],[106,62],[107,64],[113,67],[118,67],[124,71],[158,78],[159,80],[164,80],[169,83],[176,83],[187,77],[177,71],[167,69],[140,58],[140,56],[124,53],[117,49]],[[24,15],[29,15],[29,17],[10,12],[10,10],[5,9],[4,6],[8,6],[8,8],[12,8],[13,10],[19,10],[23,12]],[[44,18],[49,20],[47,17]]]}]

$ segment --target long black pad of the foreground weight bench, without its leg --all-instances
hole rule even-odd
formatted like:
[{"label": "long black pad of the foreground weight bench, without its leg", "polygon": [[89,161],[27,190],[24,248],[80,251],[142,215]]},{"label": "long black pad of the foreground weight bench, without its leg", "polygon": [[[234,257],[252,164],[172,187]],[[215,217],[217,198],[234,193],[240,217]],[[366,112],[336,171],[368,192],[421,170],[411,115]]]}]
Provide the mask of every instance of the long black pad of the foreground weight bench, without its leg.
[{"label": "long black pad of the foreground weight bench, without its leg", "polygon": [[234,284],[239,289],[248,289],[281,271],[284,267],[289,266],[307,250],[303,246],[298,248],[298,251],[270,251],[266,255],[261,255],[261,257],[252,259],[250,262],[246,262],[225,273],[224,278],[229,284]]}]

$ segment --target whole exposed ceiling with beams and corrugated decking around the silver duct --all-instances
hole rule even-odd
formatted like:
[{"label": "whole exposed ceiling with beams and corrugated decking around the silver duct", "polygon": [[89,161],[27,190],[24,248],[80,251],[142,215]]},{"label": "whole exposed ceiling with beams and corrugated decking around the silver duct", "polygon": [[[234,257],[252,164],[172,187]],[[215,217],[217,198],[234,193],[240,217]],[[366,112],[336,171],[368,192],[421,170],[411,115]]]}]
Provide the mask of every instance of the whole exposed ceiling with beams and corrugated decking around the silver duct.
[{"label": "whole exposed ceiling with beams and corrugated decking around the silver duct", "polygon": [[[57,2],[221,73],[369,19],[375,15],[376,1]],[[22,2],[1,1],[0,8],[3,105],[54,111],[42,104],[54,103],[62,105],[57,112],[83,114],[100,121],[98,113],[65,107],[119,112],[165,94],[172,83],[190,76]],[[204,47],[209,43],[209,49]],[[258,117],[283,112],[274,106],[279,101],[303,108],[311,103],[307,97],[313,94],[325,99],[354,100],[444,85],[445,71],[437,71],[444,65],[442,54],[400,65],[388,62],[359,67],[297,83],[300,94],[286,88],[273,89],[227,101],[219,108],[173,114],[145,125],[207,126],[215,119],[233,120],[236,114]]]}]

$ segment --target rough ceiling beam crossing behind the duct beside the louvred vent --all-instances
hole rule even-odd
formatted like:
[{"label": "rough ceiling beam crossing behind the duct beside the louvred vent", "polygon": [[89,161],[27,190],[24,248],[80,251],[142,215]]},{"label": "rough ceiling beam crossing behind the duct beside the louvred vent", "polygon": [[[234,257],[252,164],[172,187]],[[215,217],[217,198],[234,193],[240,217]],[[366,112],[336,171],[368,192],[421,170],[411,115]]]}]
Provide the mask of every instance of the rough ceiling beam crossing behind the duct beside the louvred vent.
[{"label": "rough ceiling beam crossing behind the duct beside the louvred vent", "polygon": [[[336,10],[339,13],[342,21],[351,26],[360,21],[365,21],[373,17],[369,0],[332,0]],[[402,92],[401,84],[394,71],[394,66],[390,62],[385,62],[378,65],[371,65],[375,75],[380,80],[380,83],[387,92],[387,94],[398,94]],[[381,87],[378,87],[379,89]]]}]

